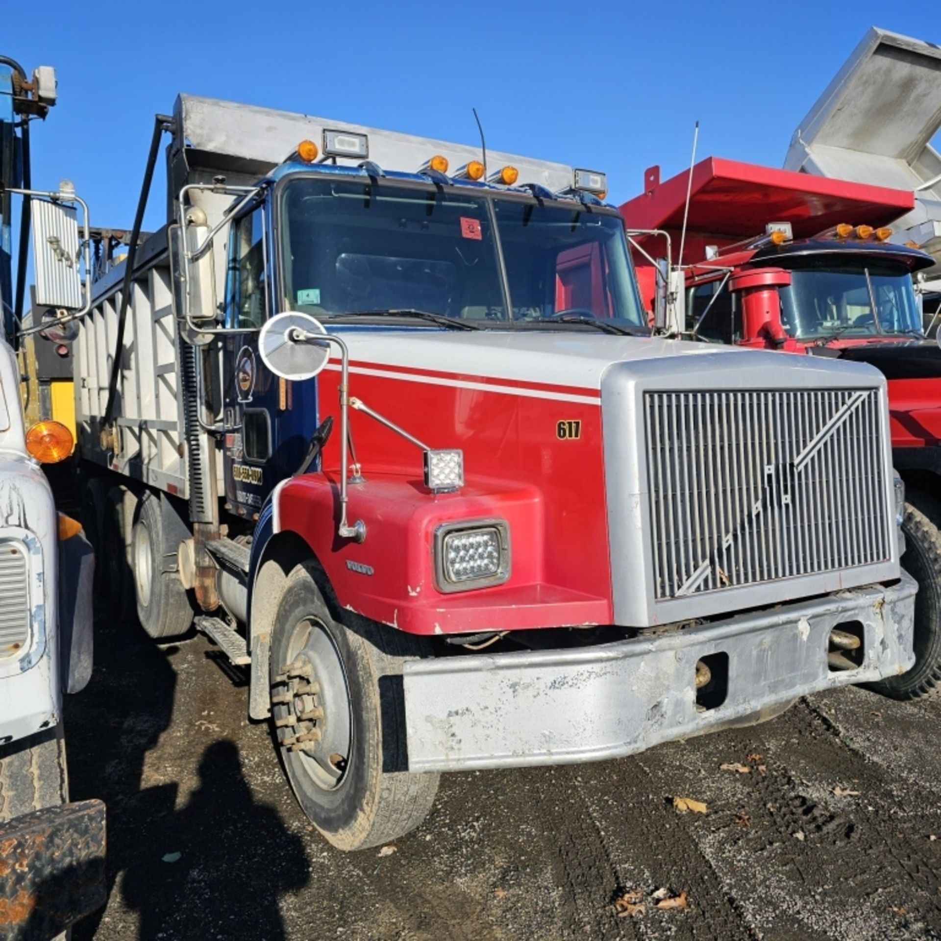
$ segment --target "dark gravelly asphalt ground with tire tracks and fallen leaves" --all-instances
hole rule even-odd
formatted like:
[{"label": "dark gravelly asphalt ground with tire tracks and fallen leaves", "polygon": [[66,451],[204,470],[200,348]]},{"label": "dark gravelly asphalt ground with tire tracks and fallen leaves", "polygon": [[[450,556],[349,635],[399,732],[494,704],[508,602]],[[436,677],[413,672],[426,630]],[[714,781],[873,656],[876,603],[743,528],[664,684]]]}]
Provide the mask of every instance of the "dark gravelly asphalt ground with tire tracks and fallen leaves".
[{"label": "dark gravelly asphalt ground with tire tracks and fallen leaves", "polygon": [[66,729],[109,898],[75,941],[941,938],[941,703],[850,688],[635,758],[445,775],[415,833],[340,853],[214,646],[106,617],[96,645]]}]

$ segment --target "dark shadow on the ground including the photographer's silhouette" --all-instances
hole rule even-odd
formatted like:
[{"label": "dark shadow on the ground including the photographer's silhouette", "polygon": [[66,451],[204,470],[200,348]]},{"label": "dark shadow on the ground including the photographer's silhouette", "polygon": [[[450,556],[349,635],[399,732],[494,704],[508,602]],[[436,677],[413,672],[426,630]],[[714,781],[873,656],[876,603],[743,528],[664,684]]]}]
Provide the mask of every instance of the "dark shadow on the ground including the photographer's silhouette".
[{"label": "dark shadow on the ground including the photographer's silhouette", "polygon": [[[302,840],[255,802],[234,742],[183,756],[190,769],[199,761],[199,785],[182,808],[181,784],[161,780],[159,766],[148,786],[145,759],[173,718],[179,648],[155,644],[136,619],[99,617],[95,630],[92,679],[68,698],[66,727],[72,800],[107,805],[109,898],[119,891],[138,913],[139,941],[284,937],[279,896],[309,880]],[[153,776],[153,758],[147,767]],[[103,918],[76,925],[73,941],[94,938]]]}]

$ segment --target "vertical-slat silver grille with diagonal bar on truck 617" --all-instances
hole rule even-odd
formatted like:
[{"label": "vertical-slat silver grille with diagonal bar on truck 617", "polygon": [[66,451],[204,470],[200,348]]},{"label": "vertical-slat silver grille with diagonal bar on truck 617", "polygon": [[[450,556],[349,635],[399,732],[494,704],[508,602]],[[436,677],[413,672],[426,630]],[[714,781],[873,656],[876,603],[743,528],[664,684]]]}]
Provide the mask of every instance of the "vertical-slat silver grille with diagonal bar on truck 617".
[{"label": "vertical-slat silver grille with diagonal bar on truck 617", "polygon": [[655,598],[885,562],[879,391],[647,392]]}]

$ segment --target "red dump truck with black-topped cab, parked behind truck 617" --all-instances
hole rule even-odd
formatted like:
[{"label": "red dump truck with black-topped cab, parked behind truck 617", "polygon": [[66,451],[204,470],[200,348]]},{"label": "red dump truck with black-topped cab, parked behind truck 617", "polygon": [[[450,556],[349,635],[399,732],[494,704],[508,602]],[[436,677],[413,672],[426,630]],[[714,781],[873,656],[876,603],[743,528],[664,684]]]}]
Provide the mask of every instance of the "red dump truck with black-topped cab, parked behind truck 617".
[{"label": "red dump truck with black-topped cab, parked behind truck 617", "polygon": [[915,284],[933,259],[889,241],[914,204],[907,190],[709,157],[664,182],[649,168],[644,192],[620,207],[648,311],[673,252],[666,332],[867,362],[885,375],[906,487],[902,566],[919,585],[916,664],[878,684],[900,699],[941,684],[941,349],[925,335]]}]

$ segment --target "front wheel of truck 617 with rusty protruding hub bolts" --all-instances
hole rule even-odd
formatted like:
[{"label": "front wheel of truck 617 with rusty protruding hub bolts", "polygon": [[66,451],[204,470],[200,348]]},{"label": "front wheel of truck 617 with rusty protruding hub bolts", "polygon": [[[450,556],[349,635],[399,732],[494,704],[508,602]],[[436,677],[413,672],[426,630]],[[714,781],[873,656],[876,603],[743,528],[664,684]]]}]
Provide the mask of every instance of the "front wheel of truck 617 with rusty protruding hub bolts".
[{"label": "front wheel of truck 617 with rusty protruding hub bolts", "polygon": [[[310,565],[279,599],[271,646],[272,721],[298,803],[341,850],[402,837],[425,818],[438,774],[407,772],[402,663],[410,639],[337,624]],[[379,649],[380,640],[393,645]]]}]

